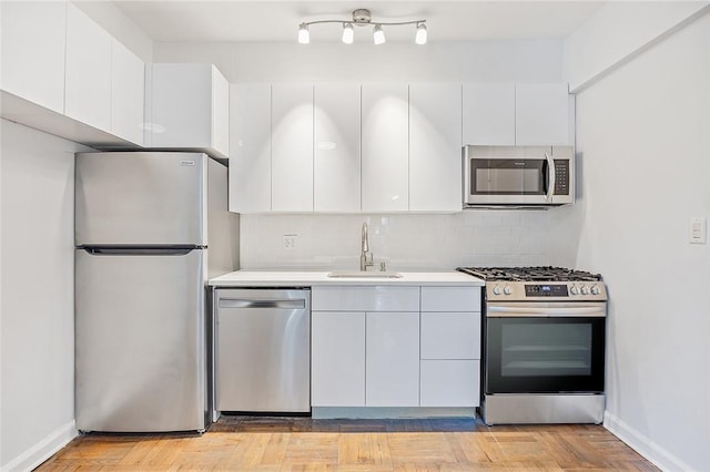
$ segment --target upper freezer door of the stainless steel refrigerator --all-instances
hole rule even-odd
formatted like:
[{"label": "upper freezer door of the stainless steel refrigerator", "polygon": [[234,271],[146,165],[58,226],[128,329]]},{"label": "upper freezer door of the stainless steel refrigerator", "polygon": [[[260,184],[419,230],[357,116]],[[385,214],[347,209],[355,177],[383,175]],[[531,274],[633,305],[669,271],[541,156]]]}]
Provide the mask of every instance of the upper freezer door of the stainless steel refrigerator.
[{"label": "upper freezer door of the stainless steel refrigerator", "polygon": [[206,163],[199,153],[79,153],[78,246],[205,246]]}]

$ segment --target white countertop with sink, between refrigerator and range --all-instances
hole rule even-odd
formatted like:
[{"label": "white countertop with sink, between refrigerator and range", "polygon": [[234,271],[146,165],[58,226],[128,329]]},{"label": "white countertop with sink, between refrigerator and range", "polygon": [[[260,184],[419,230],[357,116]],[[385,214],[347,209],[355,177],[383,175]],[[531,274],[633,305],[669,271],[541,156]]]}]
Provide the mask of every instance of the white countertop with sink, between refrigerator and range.
[{"label": "white countertop with sink, between refrigerator and range", "polygon": [[484,280],[457,271],[399,273],[399,278],[328,277],[329,271],[236,270],[210,279],[212,287],[308,287],[314,285],[416,285],[483,287]]}]

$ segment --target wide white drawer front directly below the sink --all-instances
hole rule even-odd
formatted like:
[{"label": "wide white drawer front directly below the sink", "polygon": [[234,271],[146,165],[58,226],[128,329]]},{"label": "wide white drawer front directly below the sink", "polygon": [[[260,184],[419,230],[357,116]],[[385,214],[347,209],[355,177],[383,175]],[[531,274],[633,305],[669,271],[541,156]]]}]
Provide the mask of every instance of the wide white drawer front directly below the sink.
[{"label": "wide white drawer front directly below the sink", "polygon": [[321,311],[419,311],[419,287],[313,287],[312,309]]}]

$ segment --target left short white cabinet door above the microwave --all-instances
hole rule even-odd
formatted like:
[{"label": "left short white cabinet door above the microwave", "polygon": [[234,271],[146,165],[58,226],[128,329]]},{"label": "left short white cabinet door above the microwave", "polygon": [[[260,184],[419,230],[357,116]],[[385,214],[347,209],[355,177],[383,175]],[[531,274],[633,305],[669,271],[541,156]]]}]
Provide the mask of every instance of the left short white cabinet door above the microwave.
[{"label": "left short white cabinet door above the microwave", "polygon": [[515,144],[515,84],[466,83],[462,144]]}]

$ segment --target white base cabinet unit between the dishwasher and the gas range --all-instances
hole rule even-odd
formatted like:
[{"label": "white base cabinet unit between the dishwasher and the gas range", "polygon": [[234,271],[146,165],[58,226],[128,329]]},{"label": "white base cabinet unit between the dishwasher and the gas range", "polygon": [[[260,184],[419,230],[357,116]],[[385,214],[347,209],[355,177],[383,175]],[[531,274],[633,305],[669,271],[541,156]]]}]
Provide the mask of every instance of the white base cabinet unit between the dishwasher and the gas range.
[{"label": "white base cabinet unit between the dishwasher and the gas range", "polygon": [[312,309],[313,407],[478,407],[480,288],[315,286]]}]

